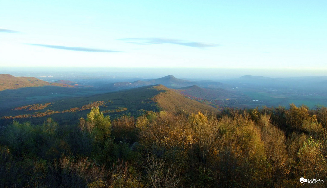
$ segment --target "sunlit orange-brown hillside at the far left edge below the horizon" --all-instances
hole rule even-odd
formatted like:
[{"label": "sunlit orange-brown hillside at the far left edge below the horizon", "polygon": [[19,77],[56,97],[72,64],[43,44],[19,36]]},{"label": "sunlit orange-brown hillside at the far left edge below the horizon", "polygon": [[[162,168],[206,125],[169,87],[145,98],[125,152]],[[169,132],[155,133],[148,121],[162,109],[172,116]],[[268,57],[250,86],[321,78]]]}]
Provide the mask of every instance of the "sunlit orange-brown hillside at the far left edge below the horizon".
[{"label": "sunlit orange-brown hillside at the far left edge below the horizon", "polygon": [[0,74],[0,91],[23,87],[59,86],[73,87],[63,83],[50,83],[35,77],[14,77],[9,74]]}]

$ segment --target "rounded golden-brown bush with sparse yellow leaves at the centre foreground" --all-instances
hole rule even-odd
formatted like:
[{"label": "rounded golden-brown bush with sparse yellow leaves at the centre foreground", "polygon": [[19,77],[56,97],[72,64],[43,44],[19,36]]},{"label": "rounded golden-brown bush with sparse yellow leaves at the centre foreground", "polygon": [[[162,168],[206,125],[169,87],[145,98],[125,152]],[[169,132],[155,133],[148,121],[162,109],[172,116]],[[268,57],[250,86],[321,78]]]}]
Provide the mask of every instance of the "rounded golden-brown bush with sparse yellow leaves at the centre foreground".
[{"label": "rounded golden-brown bush with sparse yellow leaves at the centre foreground", "polygon": [[146,121],[138,119],[140,143],[155,156],[169,159],[169,164],[180,171],[188,161],[188,150],[193,141],[192,129],[184,116],[169,112],[157,113],[157,118]]}]

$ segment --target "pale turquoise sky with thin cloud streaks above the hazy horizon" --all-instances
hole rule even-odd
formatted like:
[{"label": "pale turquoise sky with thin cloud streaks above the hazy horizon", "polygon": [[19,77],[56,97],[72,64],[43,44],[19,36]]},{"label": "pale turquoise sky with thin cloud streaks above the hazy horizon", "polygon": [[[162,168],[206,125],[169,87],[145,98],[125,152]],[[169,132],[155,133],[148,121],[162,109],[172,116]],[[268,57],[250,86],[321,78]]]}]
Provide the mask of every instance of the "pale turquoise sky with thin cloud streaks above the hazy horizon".
[{"label": "pale turquoise sky with thin cloud streaks above the hazy horizon", "polygon": [[0,67],[327,70],[327,1],[0,0]]}]

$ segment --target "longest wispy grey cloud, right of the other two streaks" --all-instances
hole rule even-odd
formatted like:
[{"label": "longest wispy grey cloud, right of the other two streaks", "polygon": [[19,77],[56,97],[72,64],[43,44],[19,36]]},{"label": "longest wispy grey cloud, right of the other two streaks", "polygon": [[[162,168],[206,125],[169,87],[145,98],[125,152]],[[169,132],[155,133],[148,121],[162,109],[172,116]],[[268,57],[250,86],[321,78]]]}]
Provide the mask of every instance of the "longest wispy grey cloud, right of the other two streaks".
[{"label": "longest wispy grey cloud, right of the other two streaks", "polygon": [[185,42],[179,39],[166,39],[166,38],[127,38],[127,39],[120,39],[120,40],[126,41],[127,43],[134,43],[134,44],[178,44],[178,45],[196,47],[196,48],[219,46],[219,44],[214,44],[214,43]]}]

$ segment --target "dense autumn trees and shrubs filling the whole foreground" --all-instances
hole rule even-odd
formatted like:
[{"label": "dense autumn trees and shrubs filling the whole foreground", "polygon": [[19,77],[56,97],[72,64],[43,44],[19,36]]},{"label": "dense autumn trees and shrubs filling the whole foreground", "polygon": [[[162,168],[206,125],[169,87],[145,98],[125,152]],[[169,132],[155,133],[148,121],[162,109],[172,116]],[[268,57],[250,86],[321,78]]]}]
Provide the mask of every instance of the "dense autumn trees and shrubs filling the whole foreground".
[{"label": "dense autumn trees and shrubs filling the whole foreground", "polygon": [[[300,187],[326,180],[327,108],[147,111],[77,125],[14,121],[1,135],[1,187]],[[319,185],[320,186],[320,185]]]}]

